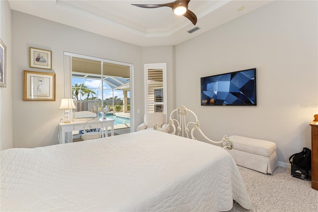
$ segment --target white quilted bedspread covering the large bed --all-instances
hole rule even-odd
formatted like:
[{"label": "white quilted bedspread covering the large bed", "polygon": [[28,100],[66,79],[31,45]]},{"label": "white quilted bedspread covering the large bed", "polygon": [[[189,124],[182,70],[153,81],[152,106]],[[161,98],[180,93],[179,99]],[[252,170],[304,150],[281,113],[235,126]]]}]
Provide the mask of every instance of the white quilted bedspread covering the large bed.
[{"label": "white quilted bedspread covering the large bed", "polygon": [[231,155],[145,130],[1,151],[1,211],[228,211],[251,208]]}]

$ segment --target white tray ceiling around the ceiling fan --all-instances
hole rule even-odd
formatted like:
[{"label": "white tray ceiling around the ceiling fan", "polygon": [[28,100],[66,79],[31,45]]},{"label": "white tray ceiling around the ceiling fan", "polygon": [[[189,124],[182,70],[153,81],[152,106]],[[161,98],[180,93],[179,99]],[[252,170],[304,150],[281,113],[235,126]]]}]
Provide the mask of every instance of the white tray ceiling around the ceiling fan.
[{"label": "white tray ceiling around the ceiling fan", "polygon": [[[9,0],[10,8],[139,46],[177,45],[273,0],[191,0],[198,22],[171,8],[131,5],[173,0]],[[243,9],[239,9],[243,8]],[[200,29],[188,33],[194,27]]]}]

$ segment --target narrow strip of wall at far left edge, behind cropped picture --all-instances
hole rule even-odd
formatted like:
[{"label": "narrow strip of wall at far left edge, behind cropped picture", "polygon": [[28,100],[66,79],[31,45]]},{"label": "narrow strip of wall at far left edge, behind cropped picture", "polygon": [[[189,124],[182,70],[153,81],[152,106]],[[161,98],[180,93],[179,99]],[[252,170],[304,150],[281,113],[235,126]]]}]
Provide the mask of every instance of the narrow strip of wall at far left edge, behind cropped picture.
[{"label": "narrow strip of wall at far left edge, behind cropped picture", "polygon": [[11,9],[7,0],[0,1],[0,37],[6,46],[6,88],[0,87],[0,150],[3,150],[13,147]]}]

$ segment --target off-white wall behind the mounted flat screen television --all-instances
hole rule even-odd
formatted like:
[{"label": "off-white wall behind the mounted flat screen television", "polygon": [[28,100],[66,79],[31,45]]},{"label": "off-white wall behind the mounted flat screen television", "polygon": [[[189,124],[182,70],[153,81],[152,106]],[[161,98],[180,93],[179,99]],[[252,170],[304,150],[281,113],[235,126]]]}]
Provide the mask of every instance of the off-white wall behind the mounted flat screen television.
[{"label": "off-white wall behind the mounted flat screen television", "polygon": [[[317,3],[274,1],[177,45],[177,106],[194,110],[213,140],[227,134],[276,142],[281,162],[311,148],[309,124],[318,113]],[[255,67],[257,106],[200,106],[200,77]]]}]

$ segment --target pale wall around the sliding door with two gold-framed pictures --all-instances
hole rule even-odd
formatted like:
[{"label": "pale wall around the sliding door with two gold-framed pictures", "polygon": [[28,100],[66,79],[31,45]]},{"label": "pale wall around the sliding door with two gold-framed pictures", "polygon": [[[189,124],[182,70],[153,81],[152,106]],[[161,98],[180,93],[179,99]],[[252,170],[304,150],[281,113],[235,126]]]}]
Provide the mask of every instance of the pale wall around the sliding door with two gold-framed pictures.
[{"label": "pale wall around the sliding door with two gold-framed pictures", "polygon": [[[52,51],[52,70],[29,68],[30,46]],[[12,10],[14,147],[59,143],[57,126],[64,114],[59,110],[64,97],[64,51],[133,64],[135,92],[143,93],[141,47]],[[23,101],[23,70],[55,73],[56,101]],[[136,95],[135,110],[142,107],[143,97]],[[135,111],[135,126],[142,117]]]}]

